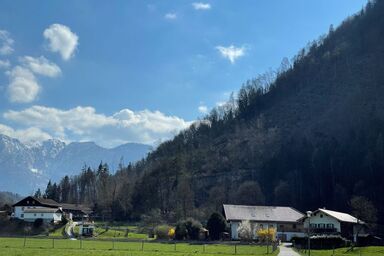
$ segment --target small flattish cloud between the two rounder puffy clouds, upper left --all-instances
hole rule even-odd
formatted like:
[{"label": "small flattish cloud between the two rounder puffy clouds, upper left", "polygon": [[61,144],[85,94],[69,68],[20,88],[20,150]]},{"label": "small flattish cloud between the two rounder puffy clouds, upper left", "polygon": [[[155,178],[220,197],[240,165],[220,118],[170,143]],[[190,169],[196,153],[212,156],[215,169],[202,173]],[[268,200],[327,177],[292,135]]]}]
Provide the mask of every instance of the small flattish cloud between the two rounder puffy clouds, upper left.
[{"label": "small flattish cloud between the two rounder puffy clouds, upper left", "polygon": [[33,58],[31,56],[24,56],[20,58],[20,62],[36,74],[56,77],[61,74],[61,69],[55,63],[50,62],[44,56]]}]

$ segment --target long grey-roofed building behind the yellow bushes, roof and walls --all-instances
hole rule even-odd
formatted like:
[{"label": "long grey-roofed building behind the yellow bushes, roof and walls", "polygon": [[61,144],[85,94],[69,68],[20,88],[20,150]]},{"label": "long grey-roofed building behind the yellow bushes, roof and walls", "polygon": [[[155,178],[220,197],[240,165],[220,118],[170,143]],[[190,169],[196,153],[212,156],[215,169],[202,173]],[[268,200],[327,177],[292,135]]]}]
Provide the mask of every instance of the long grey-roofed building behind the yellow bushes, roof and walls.
[{"label": "long grey-roofed building behind the yellow bushes, roof and walls", "polygon": [[281,241],[305,236],[303,223],[300,221],[304,214],[291,207],[225,204],[223,209],[233,240],[239,239],[238,231],[243,221],[250,222],[254,239],[257,239],[257,231],[265,228],[275,228],[277,239]]}]

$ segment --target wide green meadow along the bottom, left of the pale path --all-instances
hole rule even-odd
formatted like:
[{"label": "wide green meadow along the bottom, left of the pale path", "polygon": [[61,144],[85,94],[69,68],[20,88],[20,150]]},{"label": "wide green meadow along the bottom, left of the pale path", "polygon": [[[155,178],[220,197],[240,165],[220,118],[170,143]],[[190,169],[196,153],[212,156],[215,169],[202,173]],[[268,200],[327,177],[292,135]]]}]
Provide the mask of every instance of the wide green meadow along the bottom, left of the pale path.
[{"label": "wide green meadow along the bottom, left of the pale path", "polygon": [[[266,255],[266,247],[256,245],[237,245],[235,247],[235,245],[223,244],[192,245],[187,243],[168,244],[105,240],[0,238],[0,255]],[[269,255],[276,256],[277,251]]]}]

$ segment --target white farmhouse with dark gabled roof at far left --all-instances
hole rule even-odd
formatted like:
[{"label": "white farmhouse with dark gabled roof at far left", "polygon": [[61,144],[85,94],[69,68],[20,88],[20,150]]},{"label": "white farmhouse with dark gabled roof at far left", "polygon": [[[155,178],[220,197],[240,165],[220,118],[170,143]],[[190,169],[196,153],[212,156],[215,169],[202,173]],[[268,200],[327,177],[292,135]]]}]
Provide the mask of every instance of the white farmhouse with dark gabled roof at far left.
[{"label": "white farmhouse with dark gabled roof at far left", "polygon": [[60,222],[63,211],[60,205],[52,199],[28,196],[13,206],[12,217],[27,222],[42,219],[44,222]]}]

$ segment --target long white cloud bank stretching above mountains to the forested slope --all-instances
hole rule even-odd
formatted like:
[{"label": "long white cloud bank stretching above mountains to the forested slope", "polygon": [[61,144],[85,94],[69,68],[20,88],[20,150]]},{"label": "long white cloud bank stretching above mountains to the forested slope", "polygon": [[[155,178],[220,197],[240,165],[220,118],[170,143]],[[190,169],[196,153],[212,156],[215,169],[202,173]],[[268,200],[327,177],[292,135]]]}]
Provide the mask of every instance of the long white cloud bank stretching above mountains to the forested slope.
[{"label": "long white cloud bank stretching above mountains to the forested slope", "polygon": [[92,107],[81,106],[68,110],[33,106],[22,111],[7,111],[3,116],[18,125],[40,129],[54,138],[91,140],[106,147],[169,139],[191,124],[160,111],[122,109],[107,116]]}]

